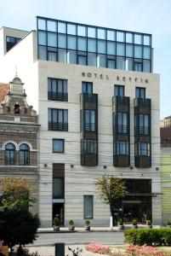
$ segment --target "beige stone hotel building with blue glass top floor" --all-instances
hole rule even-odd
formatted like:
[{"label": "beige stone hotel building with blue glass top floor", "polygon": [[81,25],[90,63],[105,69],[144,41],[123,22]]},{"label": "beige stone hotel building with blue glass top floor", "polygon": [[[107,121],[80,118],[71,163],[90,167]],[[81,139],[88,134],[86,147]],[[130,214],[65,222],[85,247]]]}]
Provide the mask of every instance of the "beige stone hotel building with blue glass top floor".
[{"label": "beige stone hotel building with blue glass top floor", "polygon": [[[6,28],[2,28],[3,37]],[[16,38],[16,30],[10,29]],[[152,73],[151,35],[37,17],[0,55],[1,81],[15,67],[39,114],[39,208],[42,226],[109,225],[95,193],[104,173],[123,177],[116,202],[125,222],[161,224],[159,75]],[[2,42],[3,38],[0,38]],[[6,43],[5,43],[6,44]],[[3,48],[5,49],[5,48]]]}]

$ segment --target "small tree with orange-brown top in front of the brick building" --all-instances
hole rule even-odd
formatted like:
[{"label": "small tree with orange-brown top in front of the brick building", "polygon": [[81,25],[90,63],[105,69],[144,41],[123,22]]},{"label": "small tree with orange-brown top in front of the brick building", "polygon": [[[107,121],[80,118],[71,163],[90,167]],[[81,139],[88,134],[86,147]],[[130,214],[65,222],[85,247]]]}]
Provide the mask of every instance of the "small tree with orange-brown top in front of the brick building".
[{"label": "small tree with orange-brown top in front of the brick building", "polygon": [[31,206],[34,199],[29,195],[29,187],[26,180],[21,177],[4,177],[2,181],[3,207],[26,207]]}]

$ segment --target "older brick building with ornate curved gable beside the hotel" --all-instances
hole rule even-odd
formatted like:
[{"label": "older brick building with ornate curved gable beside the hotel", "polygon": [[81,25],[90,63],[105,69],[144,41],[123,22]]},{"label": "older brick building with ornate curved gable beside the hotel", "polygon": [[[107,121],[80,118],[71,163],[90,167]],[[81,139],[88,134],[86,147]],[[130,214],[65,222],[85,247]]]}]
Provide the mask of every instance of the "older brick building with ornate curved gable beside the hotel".
[{"label": "older brick building with ornate curved gable beside the hotel", "polygon": [[[26,102],[23,85],[18,77],[0,84],[0,182],[3,177],[23,177],[37,199],[39,125],[36,111]],[[33,209],[37,212],[37,203]]]}]

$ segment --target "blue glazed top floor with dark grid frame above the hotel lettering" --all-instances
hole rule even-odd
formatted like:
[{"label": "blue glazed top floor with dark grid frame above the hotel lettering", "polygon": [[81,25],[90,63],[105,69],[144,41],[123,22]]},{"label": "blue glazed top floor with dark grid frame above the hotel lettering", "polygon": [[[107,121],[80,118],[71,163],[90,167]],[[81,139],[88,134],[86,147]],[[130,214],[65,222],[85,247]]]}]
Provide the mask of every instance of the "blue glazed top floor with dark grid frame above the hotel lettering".
[{"label": "blue glazed top floor with dark grid frame above the hotel lettering", "polygon": [[151,73],[151,34],[37,17],[38,59]]}]

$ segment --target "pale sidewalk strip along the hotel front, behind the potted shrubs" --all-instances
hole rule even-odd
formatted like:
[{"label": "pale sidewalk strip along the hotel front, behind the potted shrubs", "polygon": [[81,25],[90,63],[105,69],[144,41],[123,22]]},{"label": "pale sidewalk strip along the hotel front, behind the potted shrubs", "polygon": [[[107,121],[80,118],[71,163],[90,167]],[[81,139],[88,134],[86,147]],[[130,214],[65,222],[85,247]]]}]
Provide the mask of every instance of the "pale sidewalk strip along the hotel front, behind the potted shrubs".
[{"label": "pale sidewalk strip along the hotel front, behind the potted shrubs", "polygon": [[[125,224],[124,225],[125,230],[131,229],[132,224]],[[146,225],[145,224],[138,224],[139,229],[145,229]],[[152,226],[154,229],[159,229],[160,225],[153,225]],[[110,230],[110,227],[93,227],[91,226],[90,231],[84,230],[84,227],[75,227],[74,231],[69,231],[68,227],[60,227],[60,233],[67,233],[67,232],[118,232],[118,231],[123,231],[123,230],[118,230],[117,226],[114,226],[112,230]],[[38,229],[37,233],[54,233],[54,228],[40,228]]]}]

